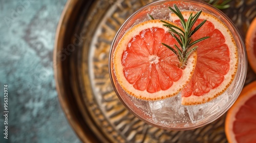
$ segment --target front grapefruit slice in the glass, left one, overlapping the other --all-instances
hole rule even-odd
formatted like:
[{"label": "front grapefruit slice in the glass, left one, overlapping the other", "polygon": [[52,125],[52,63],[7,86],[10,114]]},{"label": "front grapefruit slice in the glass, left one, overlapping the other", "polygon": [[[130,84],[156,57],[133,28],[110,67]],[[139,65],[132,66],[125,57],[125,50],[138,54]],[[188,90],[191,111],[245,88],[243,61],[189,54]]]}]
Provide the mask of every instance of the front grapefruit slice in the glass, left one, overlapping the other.
[{"label": "front grapefruit slice in the glass, left one, overlapping the other", "polygon": [[113,63],[117,81],[126,93],[142,100],[160,100],[175,96],[189,82],[196,52],[181,69],[177,56],[162,42],[178,45],[160,20],[139,23],[120,39]]}]

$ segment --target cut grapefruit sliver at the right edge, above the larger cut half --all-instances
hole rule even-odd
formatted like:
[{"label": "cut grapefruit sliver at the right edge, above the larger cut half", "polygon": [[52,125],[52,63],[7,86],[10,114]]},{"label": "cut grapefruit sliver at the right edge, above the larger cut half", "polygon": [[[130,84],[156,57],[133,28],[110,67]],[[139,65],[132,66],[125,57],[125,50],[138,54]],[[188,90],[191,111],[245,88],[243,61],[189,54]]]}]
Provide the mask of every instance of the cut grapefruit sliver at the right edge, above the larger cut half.
[{"label": "cut grapefruit sliver at the right edge, above the larger cut half", "polygon": [[256,73],[256,17],[252,20],[245,37],[245,46],[249,64]]}]

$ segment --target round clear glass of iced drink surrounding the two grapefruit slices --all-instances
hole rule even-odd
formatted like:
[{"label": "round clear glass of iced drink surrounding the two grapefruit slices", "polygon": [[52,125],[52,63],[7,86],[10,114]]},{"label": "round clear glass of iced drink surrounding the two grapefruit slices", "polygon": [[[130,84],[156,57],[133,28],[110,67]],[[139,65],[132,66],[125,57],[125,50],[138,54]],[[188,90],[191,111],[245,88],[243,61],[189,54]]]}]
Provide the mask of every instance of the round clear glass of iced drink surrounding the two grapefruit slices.
[{"label": "round clear glass of iced drink surrounding the two grapefruit slices", "polygon": [[[157,101],[144,101],[136,99],[127,94],[119,85],[115,69],[113,66],[113,53],[115,48],[125,34],[131,27],[140,22],[149,20],[148,14],[151,14],[155,19],[169,19],[170,10],[168,6],[173,7],[178,4],[178,8],[189,11],[199,11],[209,13],[219,18],[231,31],[234,40],[238,47],[238,70],[231,85],[218,98],[200,105],[181,105],[181,95],[166,98]],[[131,15],[118,30],[110,50],[109,58],[109,72],[110,79],[114,90],[122,102],[122,104],[131,111],[140,120],[147,124],[158,128],[167,130],[189,130],[195,129],[206,124],[209,124],[223,115],[238,98],[246,77],[247,58],[241,35],[231,20],[223,14],[220,10],[212,7],[209,4],[198,1],[156,1],[150,3],[133,15]]]}]

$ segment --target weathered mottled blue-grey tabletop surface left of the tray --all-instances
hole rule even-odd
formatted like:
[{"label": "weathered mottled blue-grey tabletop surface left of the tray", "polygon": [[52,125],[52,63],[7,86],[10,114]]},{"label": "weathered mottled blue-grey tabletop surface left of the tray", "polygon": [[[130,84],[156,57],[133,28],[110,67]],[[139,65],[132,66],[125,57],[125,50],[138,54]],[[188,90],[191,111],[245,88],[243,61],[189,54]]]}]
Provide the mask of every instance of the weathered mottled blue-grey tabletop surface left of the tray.
[{"label": "weathered mottled blue-grey tabletop surface left of the tray", "polygon": [[[80,142],[63,113],[52,67],[66,0],[0,0],[0,142]],[[4,138],[8,84],[8,139]]]}]

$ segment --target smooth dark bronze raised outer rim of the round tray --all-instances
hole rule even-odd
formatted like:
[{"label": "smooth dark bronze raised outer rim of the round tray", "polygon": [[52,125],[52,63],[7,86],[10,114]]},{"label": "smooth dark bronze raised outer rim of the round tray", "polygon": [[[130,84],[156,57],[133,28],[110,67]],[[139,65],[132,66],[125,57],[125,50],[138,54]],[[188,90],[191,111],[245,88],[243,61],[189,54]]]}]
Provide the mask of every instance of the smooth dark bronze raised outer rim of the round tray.
[{"label": "smooth dark bronze raised outer rim of the round tray", "polygon": [[[73,20],[74,18],[79,18],[79,9],[84,8],[84,3],[86,4],[86,6],[89,6],[91,2],[93,1],[67,1],[61,13],[60,20],[57,26],[53,52],[54,78],[56,83],[56,90],[58,93],[58,99],[62,110],[68,119],[69,124],[76,132],[80,140],[83,142],[98,142],[99,136],[94,134],[98,131],[97,129],[94,129],[94,131],[92,131],[94,124],[93,121],[90,121],[90,117],[88,117],[87,120],[81,118],[81,111],[79,107],[76,106],[76,100],[74,99],[72,93],[67,92],[68,90],[72,90],[72,86],[70,85],[71,82],[67,83],[67,79],[65,79],[65,74],[67,75],[67,73],[65,73],[65,68],[67,68],[65,66],[65,63],[67,63],[69,59],[62,61],[58,56],[58,52],[63,50],[65,40],[67,40],[68,37],[67,35],[71,35],[69,33],[69,29],[74,29],[74,27],[72,26],[74,26],[75,24],[72,22],[76,22],[76,20]],[[91,124],[88,125],[89,123]]]}]

